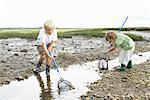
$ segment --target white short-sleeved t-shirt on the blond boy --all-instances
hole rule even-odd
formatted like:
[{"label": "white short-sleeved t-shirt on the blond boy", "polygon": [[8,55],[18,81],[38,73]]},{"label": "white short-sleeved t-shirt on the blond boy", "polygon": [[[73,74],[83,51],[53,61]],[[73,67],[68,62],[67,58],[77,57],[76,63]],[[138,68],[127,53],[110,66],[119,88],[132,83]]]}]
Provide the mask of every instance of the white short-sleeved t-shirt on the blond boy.
[{"label": "white short-sleeved t-shirt on the blond boy", "polygon": [[45,43],[48,45],[52,41],[57,40],[57,30],[55,29],[51,35],[47,34],[44,29],[41,29],[39,32],[39,35],[37,37],[38,45],[42,45],[42,43]]}]

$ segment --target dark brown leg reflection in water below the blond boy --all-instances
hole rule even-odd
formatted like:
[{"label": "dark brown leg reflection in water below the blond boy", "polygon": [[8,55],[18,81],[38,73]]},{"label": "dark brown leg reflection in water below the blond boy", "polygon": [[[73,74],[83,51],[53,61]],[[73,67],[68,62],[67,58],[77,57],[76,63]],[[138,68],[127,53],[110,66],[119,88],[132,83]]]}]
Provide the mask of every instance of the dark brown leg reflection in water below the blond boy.
[{"label": "dark brown leg reflection in water below the blond boy", "polygon": [[51,80],[50,76],[47,76],[47,87],[44,86],[44,82],[42,80],[42,77],[40,76],[39,73],[36,73],[36,78],[39,82],[40,88],[41,88],[41,94],[40,94],[40,99],[41,100],[51,100],[53,99],[52,97],[52,89],[51,89]]}]

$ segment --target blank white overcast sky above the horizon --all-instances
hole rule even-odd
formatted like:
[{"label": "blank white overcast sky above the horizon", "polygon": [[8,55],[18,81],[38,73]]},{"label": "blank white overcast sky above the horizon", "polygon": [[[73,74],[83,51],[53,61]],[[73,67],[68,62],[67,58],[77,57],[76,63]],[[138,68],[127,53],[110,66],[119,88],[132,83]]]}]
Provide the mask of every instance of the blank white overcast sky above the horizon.
[{"label": "blank white overcast sky above the horizon", "polygon": [[150,0],[0,0],[0,27],[150,27]]}]

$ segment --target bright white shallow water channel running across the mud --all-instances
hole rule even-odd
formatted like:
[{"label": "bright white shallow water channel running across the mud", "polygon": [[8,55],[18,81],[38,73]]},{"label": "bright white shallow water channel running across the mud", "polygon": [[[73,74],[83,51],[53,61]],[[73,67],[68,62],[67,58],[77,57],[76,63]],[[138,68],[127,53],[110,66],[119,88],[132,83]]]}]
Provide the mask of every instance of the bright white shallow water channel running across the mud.
[{"label": "bright white shallow water channel running across the mud", "polygon": [[[150,59],[150,51],[133,55],[133,64],[140,64]],[[109,70],[119,65],[119,59],[109,61]],[[100,79],[97,70],[98,61],[84,63],[83,65],[71,65],[66,71],[59,68],[65,80],[70,81],[74,90],[62,92],[58,95],[57,82],[59,75],[56,70],[51,70],[51,77],[46,78],[45,72],[39,76],[31,76],[23,81],[13,81],[9,85],[0,87],[0,100],[40,100],[44,98],[55,100],[72,100],[88,91],[87,85]]]}]

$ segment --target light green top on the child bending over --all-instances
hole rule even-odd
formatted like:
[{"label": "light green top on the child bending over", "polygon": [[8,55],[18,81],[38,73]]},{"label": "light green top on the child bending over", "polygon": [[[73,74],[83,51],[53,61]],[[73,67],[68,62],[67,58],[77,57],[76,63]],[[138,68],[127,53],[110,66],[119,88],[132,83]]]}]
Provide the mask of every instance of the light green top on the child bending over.
[{"label": "light green top on the child bending over", "polygon": [[129,36],[122,33],[116,33],[115,46],[123,50],[130,50],[135,47],[135,43]]}]

